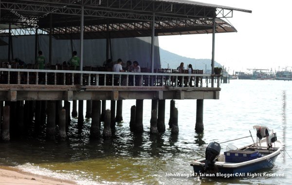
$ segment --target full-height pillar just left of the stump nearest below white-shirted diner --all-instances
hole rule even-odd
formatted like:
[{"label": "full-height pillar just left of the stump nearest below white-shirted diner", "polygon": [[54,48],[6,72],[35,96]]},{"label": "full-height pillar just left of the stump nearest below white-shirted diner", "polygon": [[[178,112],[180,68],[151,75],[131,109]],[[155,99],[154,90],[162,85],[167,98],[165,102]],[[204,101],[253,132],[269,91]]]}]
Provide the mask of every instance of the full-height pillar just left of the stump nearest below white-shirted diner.
[{"label": "full-height pillar just left of the stump nearest below white-shirted diner", "polygon": [[93,100],[92,101],[92,119],[91,119],[91,128],[90,128],[90,136],[92,138],[99,137],[99,118],[100,118],[100,101]]}]

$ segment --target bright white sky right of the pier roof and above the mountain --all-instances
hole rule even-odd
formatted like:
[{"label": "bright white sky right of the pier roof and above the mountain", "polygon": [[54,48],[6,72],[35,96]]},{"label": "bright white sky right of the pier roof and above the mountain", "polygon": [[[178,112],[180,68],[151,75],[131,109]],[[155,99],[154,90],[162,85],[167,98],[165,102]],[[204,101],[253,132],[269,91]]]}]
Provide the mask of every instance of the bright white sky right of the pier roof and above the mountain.
[{"label": "bright white sky right of the pier roof and above the mountain", "polygon": [[[197,0],[252,10],[228,20],[237,33],[216,34],[215,60],[236,71],[292,66],[290,0]],[[212,57],[212,34],[159,37],[160,47],[191,58]]]}]

